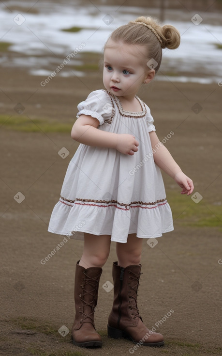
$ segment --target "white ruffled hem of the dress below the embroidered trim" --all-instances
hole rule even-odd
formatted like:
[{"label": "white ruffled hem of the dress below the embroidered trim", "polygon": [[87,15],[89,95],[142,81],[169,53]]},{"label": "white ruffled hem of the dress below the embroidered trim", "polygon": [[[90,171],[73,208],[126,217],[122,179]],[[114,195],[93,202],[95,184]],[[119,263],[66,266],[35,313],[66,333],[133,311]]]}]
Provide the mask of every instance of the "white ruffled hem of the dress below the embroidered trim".
[{"label": "white ruffled hem of the dress below the embroidered trim", "polygon": [[110,205],[70,206],[60,201],[54,207],[48,231],[66,235],[69,238],[83,240],[79,232],[93,235],[110,235],[111,241],[126,243],[129,234],[136,233],[138,238],[157,238],[163,233],[173,231],[173,219],[169,204],[155,206],[134,206],[118,209]]}]

